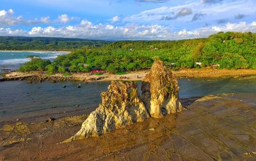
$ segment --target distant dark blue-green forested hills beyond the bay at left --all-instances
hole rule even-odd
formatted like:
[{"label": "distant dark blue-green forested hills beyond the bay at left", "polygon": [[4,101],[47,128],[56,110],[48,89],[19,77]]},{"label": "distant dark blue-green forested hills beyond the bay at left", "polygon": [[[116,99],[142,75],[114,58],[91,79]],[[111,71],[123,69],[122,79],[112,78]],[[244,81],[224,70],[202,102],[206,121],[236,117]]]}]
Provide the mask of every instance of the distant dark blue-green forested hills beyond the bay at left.
[{"label": "distant dark blue-green forested hills beyond the bay at left", "polygon": [[63,50],[70,51],[84,45],[100,47],[106,41],[79,38],[12,37],[0,36],[0,50]]}]

